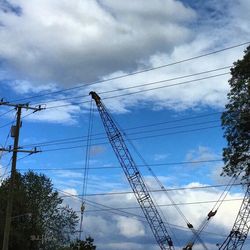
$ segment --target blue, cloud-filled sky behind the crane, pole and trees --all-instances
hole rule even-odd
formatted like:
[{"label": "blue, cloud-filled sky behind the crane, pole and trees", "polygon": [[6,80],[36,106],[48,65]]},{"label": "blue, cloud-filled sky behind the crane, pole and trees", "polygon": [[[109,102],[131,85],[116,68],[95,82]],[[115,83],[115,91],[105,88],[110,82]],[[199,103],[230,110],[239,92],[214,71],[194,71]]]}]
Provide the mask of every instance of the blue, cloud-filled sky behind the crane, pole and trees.
[{"label": "blue, cloud-filled sky behind the crane, pole and trees", "polygon": [[[229,68],[250,41],[249,12],[247,0],[0,1],[0,97],[46,108],[23,110],[20,147],[42,152],[20,153],[17,169],[49,176],[63,195],[75,195],[65,197],[65,204],[77,211],[93,105],[83,235],[91,235],[98,249],[158,247],[88,93],[100,94],[126,138],[170,189],[152,197],[176,249],[182,249],[192,235],[168,196],[197,228],[230,181],[220,176],[226,146],[220,115]],[[0,143],[7,147],[13,144],[8,134],[15,110],[0,108]],[[128,146],[149,189],[159,191]],[[10,159],[10,153],[1,155],[3,178]],[[229,234],[242,196],[239,186],[232,187],[201,234],[209,249]],[[248,247],[249,238],[243,249]],[[203,248],[197,242],[194,249]]]}]

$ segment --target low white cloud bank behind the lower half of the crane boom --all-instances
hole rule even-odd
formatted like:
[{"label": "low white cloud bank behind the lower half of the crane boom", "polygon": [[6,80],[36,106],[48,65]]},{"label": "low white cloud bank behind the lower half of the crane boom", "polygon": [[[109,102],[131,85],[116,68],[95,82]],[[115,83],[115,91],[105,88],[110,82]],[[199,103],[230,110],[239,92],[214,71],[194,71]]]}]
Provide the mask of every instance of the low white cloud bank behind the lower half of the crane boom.
[{"label": "low white cloud bank behind the lower half of the crane boom", "polygon": [[[192,188],[204,185],[202,183],[189,183],[184,187]],[[199,190],[182,189],[179,191],[169,191],[169,194],[177,204],[208,201],[208,203],[179,206],[186,218],[197,228],[213,208],[215,203],[211,203],[211,201],[217,200],[221,192],[222,190],[218,188]],[[204,230],[204,233],[201,234],[202,240],[209,249],[217,249],[216,243],[223,242],[226,235],[229,234],[241,203],[240,200],[234,199],[242,197],[241,193],[231,192],[226,197],[226,200],[233,200],[225,201],[222,204],[215,217],[211,219],[208,227]],[[96,196],[88,197],[87,199],[84,228],[88,234],[94,237],[96,245],[100,250],[107,249],[107,246],[109,246],[108,249],[124,249],[123,247],[125,246],[128,247],[126,249],[134,249],[133,247],[135,246],[137,246],[136,249],[157,249],[148,224],[142,222],[141,217],[137,218],[135,215],[133,216],[133,214],[142,215],[133,194]],[[154,193],[154,199],[160,205],[161,210],[181,243],[181,246],[178,246],[173,238],[176,249],[182,249],[192,236],[191,232],[188,231],[183,219],[178,215],[173,206],[170,205],[170,201],[164,192]],[[70,200],[68,201],[70,202]],[[73,203],[76,209],[79,210],[79,205],[76,205],[77,202],[74,200]],[[78,204],[80,204],[80,201]],[[100,204],[103,204],[104,207]],[[126,207],[130,207],[131,209],[124,209]],[[120,208],[119,211],[116,208]],[[123,214],[121,211],[131,214]],[[172,224],[181,226],[181,228],[177,229]],[[202,249],[202,247],[196,244],[195,249]]]}]

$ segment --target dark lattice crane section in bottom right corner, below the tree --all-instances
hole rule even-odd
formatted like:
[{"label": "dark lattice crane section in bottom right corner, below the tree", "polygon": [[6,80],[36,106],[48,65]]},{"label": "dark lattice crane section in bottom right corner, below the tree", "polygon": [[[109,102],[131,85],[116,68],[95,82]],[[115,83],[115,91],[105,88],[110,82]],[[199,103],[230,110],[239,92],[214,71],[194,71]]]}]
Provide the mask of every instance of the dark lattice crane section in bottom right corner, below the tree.
[{"label": "dark lattice crane section in bottom right corner, below the tree", "polygon": [[247,184],[246,193],[233,228],[226,240],[221,244],[221,250],[240,250],[247,238],[250,229],[250,184]]}]

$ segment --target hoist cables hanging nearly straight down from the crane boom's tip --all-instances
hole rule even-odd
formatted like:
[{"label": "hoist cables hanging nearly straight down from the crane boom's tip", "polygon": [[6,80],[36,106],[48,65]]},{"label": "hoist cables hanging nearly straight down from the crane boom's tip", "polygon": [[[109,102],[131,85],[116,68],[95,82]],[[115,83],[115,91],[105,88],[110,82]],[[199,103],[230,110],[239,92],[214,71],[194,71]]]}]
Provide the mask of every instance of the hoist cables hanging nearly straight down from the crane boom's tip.
[{"label": "hoist cables hanging nearly straight down from the crane boom's tip", "polygon": [[84,165],[84,177],[83,177],[83,185],[82,185],[81,219],[80,219],[80,229],[79,229],[79,240],[81,240],[81,236],[82,236],[83,213],[84,213],[84,210],[85,210],[85,200],[86,200],[88,175],[89,175],[89,159],[90,159],[92,129],[93,129],[93,102],[91,100],[90,109],[89,109],[88,134],[87,134],[86,151],[85,151],[86,154],[85,154],[85,165]]}]

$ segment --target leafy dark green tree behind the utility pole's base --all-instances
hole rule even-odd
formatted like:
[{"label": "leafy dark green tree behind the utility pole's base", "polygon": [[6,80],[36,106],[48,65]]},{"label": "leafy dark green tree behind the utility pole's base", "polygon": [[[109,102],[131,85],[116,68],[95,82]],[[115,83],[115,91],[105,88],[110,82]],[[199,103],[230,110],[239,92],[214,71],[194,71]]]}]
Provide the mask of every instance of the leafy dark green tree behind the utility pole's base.
[{"label": "leafy dark green tree behind the utility pole's base", "polygon": [[[0,245],[9,180],[0,186]],[[62,204],[58,192],[45,175],[29,171],[15,176],[12,230],[9,250],[59,249],[69,244],[78,223],[76,213]]]}]

